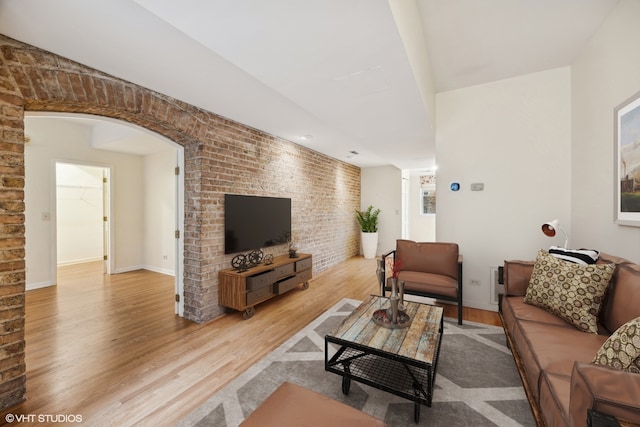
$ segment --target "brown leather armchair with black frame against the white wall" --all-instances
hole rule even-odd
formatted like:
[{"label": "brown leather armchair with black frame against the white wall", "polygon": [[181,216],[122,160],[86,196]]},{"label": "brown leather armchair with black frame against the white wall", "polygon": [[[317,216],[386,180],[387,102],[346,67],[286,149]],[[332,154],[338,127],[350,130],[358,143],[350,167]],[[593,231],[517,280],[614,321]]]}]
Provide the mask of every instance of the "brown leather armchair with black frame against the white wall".
[{"label": "brown leather armchair with black frame against the white wall", "polygon": [[[397,240],[396,249],[382,255],[383,278],[391,255],[405,294],[458,303],[458,324],[462,325],[462,255],[457,243]],[[391,282],[383,279],[380,287],[384,296]]]}]

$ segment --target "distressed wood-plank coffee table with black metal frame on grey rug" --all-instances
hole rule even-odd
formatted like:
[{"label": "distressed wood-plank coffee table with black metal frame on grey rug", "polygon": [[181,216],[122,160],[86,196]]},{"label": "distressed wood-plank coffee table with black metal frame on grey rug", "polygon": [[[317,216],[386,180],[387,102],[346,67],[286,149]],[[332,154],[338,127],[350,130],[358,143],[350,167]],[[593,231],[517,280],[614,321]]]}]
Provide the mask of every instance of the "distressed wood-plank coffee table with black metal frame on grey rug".
[{"label": "distressed wood-plank coffee table with black metal frame on grey rug", "polygon": [[[405,301],[413,319],[403,329],[378,326],[373,312],[389,307],[389,299],[372,295],[332,332],[325,335],[326,371],[342,376],[342,392],[351,380],[414,402],[414,420],[420,405],[431,406],[442,342],[442,307]],[[330,356],[330,343],[338,350]]]}]

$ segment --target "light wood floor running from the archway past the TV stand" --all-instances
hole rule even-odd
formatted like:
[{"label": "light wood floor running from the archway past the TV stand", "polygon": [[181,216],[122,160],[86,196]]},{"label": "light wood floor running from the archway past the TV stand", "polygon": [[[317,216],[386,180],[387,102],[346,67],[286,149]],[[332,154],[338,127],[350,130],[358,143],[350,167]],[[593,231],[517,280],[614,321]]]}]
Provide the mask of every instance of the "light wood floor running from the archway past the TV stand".
[{"label": "light wood floor running from the archway past the TV stand", "polygon": [[[173,278],[63,267],[56,287],[27,292],[27,400],[0,412],[80,415],[85,425],[170,425],[340,299],[377,293],[375,260],[352,258],[256,306],[205,324],[173,313]],[[455,317],[455,306],[445,305]],[[499,325],[496,313],[464,318]],[[39,424],[41,425],[41,424]],[[58,424],[59,425],[59,424]]]}]

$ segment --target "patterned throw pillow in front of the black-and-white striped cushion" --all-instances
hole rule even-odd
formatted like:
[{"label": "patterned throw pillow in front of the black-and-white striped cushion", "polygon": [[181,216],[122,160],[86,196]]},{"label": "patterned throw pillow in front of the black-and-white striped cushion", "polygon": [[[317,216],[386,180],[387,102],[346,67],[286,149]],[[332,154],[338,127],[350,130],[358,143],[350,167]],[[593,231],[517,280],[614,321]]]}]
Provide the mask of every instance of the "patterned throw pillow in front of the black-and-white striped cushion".
[{"label": "patterned throw pillow in front of the black-and-white striped cushion", "polygon": [[598,314],[615,264],[580,265],[538,251],[524,302],[598,333]]}]

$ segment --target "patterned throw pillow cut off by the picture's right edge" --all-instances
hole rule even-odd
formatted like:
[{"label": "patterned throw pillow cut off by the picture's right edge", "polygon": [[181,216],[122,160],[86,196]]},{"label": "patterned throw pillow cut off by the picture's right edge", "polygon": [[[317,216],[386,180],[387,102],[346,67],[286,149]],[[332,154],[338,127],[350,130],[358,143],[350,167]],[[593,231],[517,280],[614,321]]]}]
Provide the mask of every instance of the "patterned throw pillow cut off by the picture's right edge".
[{"label": "patterned throw pillow cut off by the picture's right edge", "polygon": [[629,320],[611,334],[593,363],[640,374],[640,317]]}]

